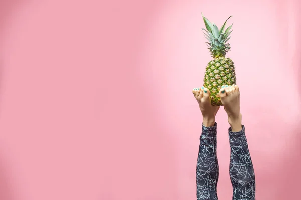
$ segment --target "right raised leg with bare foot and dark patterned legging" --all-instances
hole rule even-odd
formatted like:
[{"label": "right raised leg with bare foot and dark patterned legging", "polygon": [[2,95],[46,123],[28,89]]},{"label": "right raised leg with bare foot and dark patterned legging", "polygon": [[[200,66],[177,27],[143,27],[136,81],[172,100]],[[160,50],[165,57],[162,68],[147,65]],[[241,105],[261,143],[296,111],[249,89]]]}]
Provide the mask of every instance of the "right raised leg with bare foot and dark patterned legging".
[{"label": "right raised leg with bare foot and dark patterned legging", "polygon": [[229,140],[231,147],[230,179],[233,186],[233,200],[255,200],[255,174],[245,135],[241,124],[240,91],[237,85],[223,86],[221,101],[228,114]]}]

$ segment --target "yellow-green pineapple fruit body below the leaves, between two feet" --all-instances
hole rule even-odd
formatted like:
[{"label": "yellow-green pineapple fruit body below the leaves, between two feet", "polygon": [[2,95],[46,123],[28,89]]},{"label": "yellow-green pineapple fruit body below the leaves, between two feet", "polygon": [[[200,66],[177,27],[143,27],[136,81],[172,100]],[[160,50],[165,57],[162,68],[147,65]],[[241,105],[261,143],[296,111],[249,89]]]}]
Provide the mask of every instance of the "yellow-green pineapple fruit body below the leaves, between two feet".
[{"label": "yellow-green pineapple fruit body below the leaves, between two feet", "polygon": [[219,90],[223,85],[233,84],[236,84],[235,66],[230,58],[214,58],[207,64],[204,87],[210,90],[211,105],[222,106]]}]

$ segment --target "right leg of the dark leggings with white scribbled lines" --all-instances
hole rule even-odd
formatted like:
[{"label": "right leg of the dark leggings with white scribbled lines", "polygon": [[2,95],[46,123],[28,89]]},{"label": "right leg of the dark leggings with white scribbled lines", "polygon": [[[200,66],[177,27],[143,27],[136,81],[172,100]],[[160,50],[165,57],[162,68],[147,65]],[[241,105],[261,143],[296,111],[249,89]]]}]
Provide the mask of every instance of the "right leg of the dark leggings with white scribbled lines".
[{"label": "right leg of the dark leggings with white scribbled lines", "polygon": [[233,185],[233,200],[255,199],[255,174],[245,135],[245,127],[242,125],[238,132],[229,128],[229,140],[231,147],[230,178]]}]

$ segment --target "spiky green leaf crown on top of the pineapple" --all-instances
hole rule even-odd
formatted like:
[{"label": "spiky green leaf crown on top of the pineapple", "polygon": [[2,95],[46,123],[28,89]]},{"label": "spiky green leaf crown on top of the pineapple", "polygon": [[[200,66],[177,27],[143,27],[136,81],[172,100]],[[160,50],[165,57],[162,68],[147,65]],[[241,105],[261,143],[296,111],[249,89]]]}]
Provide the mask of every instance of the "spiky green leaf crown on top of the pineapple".
[{"label": "spiky green leaf crown on top of the pineapple", "polygon": [[232,16],[230,16],[225,21],[225,23],[220,29],[218,29],[218,27],[214,23],[211,23],[206,17],[204,17],[203,13],[202,17],[206,27],[206,29],[202,28],[202,30],[204,32],[205,38],[208,40],[208,42],[206,43],[208,44],[207,46],[210,51],[210,54],[215,58],[225,57],[226,53],[230,50],[230,44],[226,42],[231,38],[230,34],[232,32],[231,28],[233,23],[226,30],[225,27],[227,21]]}]

